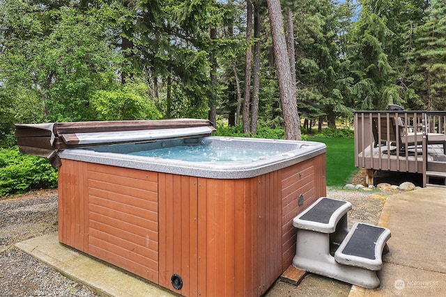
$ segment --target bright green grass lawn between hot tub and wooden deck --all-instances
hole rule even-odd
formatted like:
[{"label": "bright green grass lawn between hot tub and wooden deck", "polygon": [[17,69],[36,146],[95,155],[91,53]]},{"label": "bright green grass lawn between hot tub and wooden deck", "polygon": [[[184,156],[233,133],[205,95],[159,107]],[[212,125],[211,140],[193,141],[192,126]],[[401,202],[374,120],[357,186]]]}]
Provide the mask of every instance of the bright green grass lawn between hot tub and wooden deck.
[{"label": "bright green grass lawn between hot tub and wooden deck", "polygon": [[308,138],[327,145],[327,186],[344,186],[357,172],[353,138]]}]

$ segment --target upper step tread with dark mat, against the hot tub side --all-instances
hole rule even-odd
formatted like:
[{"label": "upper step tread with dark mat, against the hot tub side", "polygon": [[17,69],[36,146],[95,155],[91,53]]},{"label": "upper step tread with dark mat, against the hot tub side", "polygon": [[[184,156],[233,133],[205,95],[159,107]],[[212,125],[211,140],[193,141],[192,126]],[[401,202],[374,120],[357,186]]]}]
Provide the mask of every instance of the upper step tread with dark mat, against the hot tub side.
[{"label": "upper step tread with dark mat, against the hot tub side", "polygon": [[321,197],[293,219],[294,227],[322,233],[336,230],[339,220],[351,209],[351,203]]}]

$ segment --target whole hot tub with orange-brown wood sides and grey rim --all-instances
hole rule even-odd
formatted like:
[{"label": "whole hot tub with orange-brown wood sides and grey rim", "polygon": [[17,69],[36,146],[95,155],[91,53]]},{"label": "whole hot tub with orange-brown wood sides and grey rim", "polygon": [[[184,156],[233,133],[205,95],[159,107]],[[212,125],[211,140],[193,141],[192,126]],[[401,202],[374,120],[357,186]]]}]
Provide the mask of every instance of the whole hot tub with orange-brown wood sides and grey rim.
[{"label": "whole hot tub with orange-brown wood sides and grey rim", "polygon": [[[325,145],[208,134],[78,134],[58,152],[59,241],[183,296],[261,296],[292,263],[293,218],[326,194]],[[197,146],[265,154],[135,155]]]}]

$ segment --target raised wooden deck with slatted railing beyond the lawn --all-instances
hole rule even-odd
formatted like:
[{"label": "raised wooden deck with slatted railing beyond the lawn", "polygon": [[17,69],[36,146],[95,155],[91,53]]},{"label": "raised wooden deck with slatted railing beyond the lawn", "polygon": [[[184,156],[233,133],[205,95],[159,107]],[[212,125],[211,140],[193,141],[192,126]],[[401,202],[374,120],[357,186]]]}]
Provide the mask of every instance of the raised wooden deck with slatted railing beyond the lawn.
[{"label": "raised wooden deck with slatted railing beyond the lawn", "polygon": [[446,187],[446,112],[355,112],[355,166],[419,173],[423,186]]}]

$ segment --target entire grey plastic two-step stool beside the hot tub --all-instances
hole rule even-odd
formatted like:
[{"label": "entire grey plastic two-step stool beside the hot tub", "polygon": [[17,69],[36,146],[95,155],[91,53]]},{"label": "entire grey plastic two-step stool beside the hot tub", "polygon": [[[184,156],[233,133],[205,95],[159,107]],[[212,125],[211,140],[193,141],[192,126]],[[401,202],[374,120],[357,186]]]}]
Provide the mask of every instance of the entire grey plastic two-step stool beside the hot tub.
[{"label": "entire grey plastic two-step stool beside the hot tub", "polygon": [[322,197],[296,216],[293,266],[367,289],[379,287],[376,271],[383,268],[390,230],[366,223],[348,230],[350,209],[350,202]]}]

